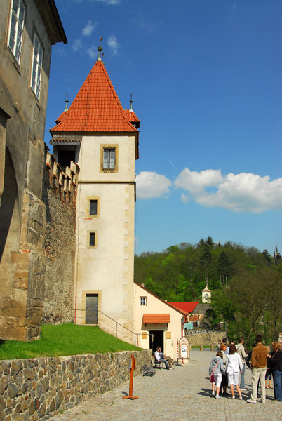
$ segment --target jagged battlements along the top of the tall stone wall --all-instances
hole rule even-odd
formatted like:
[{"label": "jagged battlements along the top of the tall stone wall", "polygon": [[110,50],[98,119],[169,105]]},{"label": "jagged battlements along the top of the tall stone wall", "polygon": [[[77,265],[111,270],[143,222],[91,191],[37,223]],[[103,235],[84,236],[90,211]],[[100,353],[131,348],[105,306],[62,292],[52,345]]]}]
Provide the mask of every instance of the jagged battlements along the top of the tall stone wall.
[{"label": "jagged battlements along the top of the tall stone wall", "polygon": [[53,156],[48,151],[48,146],[46,147],[46,169],[49,173],[49,182],[50,186],[60,190],[62,194],[65,195],[65,199],[69,196],[69,199],[72,196],[76,195],[76,187],[79,179],[79,166],[77,163],[71,161],[70,168],[67,167],[65,172],[62,171],[59,163],[55,161],[55,156]]}]

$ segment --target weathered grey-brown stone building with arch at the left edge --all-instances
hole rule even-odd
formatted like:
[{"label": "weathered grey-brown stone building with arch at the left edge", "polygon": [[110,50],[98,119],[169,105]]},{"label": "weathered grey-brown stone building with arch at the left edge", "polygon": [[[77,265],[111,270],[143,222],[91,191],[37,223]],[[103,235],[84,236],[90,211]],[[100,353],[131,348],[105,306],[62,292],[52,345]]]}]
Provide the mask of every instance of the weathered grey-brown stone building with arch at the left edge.
[{"label": "weathered grey-brown stone building with arch at the left edge", "polygon": [[46,276],[46,119],[51,48],[67,43],[53,0],[1,0],[0,338],[38,338]]}]

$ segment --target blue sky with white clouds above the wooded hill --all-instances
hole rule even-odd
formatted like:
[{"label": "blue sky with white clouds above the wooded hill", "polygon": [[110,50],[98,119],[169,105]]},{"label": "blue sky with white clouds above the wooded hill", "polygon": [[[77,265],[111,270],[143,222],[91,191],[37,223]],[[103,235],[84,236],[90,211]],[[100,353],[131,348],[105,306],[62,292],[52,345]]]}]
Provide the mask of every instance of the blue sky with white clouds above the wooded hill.
[{"label": "blue sky with white clouds above the wooded hill", "polygon": [[281,0],[56,0],[48,129],[97,59],[140,126],[135,253],[182,241],[282,251]]}]

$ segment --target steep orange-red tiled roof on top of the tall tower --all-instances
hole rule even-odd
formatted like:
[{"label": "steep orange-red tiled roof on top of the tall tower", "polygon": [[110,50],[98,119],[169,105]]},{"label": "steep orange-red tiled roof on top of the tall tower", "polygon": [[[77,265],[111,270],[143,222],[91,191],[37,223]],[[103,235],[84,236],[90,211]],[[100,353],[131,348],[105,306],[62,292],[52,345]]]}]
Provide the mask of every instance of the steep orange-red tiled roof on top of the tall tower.
[{"label": "steep orange-red tiled roof on top of the tall tower", "polygon": [[104,64],[97,60],[72,105],[50,132],[137,132],[130,121],[139,120],[121,107]]}]

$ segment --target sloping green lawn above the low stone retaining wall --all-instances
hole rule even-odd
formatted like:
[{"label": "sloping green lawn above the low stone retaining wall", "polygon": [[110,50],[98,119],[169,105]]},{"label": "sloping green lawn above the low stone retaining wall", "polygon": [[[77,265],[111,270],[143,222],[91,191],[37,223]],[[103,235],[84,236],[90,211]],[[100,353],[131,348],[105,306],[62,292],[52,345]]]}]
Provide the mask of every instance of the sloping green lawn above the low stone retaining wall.
[{"label": "sloping green lawn above the low stone retaining wall", "polygon": [[105,354],[129,350],[135,351],[140,348],[114,338],[100,330],[98,326],[42,325],[39,340],[32,342],[7,340],[1,343],[0,360],[38,356]]}]

